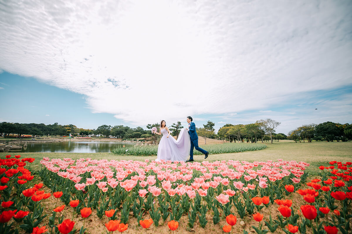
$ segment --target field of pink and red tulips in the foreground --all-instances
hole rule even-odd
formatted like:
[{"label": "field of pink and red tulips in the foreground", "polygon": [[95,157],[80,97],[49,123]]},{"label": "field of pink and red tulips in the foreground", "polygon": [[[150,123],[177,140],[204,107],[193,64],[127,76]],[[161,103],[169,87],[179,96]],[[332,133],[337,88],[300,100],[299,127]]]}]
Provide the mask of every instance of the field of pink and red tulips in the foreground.
[{"label": "field of pink and red tulips in the foreground", "polygon": [[351,233],[351,162],[33,161],[0,159],[0,233]]}]

